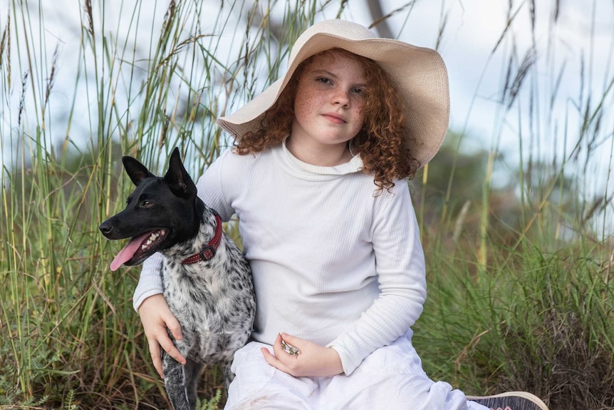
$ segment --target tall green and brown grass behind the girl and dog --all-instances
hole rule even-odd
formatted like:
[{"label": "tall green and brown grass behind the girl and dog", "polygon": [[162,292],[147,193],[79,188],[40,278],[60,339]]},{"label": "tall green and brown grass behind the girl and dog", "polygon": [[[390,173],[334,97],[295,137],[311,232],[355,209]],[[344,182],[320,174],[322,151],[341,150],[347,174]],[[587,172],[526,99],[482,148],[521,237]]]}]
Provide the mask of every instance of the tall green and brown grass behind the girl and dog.
[{"label": "tall green and brown grass behind the girl and dog", "polygon": [[[130,190],[120,155],[162,170],[178,145],[199,175],[229,145],[214,119],[274,81],[314,19],[353,11],[344,1],[69,5],[80,11],[74,48],[47,29],[43,1],[12,0],[0,16],[0,409],[167,408],[132,309],[139,269],[112,274],[117,245],[98,233]],[[579,130],[551,127],[576,141],[563,158],[526,148],[551,142],[543,136],[518,135],[516,179],[501,187],[504,124],[517,115],[524,129],[548,106],[531,53],[512,58],[511,43],[507,30],[493,39],[492,58],[509,63],[491,149],[464,153],[463,132],[451,135],[457,144],[412,183],[430,288],[415,344],[432,378],[467,393],[524,389],[553,410],[612,408],[612,193],[586,195],[575,172],[594,169],[590,150],[612,150],[611,82],[576,99]],[[548,92],[556,99],[556,85]],[[200,408],[223,395],[207,369]]]}]

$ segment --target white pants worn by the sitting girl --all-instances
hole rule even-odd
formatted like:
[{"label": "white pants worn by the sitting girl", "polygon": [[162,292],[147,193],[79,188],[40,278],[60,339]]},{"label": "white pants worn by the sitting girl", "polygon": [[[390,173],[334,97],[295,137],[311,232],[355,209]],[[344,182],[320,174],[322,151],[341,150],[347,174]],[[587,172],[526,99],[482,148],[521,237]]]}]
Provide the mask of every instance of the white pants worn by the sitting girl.
[{"label": "white pants worn by the sitting girl", "polygon": [[250,342],[234,354],[225,409],[489,410],[422,370],[412,332],[370,354],[350,376],[293,377],[271,367]]}]

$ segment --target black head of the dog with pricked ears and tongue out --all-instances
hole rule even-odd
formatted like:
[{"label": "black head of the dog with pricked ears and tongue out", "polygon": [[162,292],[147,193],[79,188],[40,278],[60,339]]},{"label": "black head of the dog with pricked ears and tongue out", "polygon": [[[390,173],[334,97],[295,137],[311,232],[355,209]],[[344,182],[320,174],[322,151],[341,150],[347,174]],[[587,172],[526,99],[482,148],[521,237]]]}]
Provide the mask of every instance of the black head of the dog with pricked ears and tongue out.
[{"label": "black head of the dog with pricked ears and tongue out", "polygon": [[189,240],[197,234],[202,217],[196,185],[179,158],[179,149],[172,151],[163,178],[135,158],[124,156],[122,162],[136,188],[125,210],[105,220],[99,229],[110,240],[132,239],[111,262],[111,270],[139,265],[155,252]]}]

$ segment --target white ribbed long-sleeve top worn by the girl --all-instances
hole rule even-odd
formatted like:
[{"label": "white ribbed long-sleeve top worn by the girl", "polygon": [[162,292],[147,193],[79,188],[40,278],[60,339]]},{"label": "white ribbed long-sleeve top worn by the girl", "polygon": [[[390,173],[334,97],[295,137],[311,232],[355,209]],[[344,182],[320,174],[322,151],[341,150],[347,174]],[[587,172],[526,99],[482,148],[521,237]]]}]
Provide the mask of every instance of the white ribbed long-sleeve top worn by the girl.
[{"label": "white ribbed long-sleeve top worn by the girl", "polygon": [[[222,220],[236,213],[256,289],[252,337],[279,332],[333,347],[345,374],[407,332],[426,298],[425,262],[407,181],[376,195],[359,155],[321,167],[285,147],[227,150],[197,183]],[[162,292],[159,254],[134,304]]]}]

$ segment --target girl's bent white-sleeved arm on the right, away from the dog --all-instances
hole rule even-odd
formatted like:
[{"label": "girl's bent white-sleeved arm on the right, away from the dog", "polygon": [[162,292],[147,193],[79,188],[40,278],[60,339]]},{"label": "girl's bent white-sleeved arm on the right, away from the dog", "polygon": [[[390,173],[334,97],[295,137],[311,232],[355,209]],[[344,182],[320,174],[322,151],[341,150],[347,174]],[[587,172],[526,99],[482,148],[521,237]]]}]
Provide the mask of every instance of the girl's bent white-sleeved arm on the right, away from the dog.
[{"label": "girl's bent white-sleeved arm on the right, away from the dog", "polygon": [[380,295],[350,330],[328,347],[335,349],[345,374],[380,347],[405,334],[422,313],[426,299],[425,257],[407,181],[384,191],[373,222],[373,250]]}]

